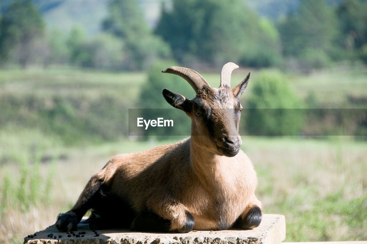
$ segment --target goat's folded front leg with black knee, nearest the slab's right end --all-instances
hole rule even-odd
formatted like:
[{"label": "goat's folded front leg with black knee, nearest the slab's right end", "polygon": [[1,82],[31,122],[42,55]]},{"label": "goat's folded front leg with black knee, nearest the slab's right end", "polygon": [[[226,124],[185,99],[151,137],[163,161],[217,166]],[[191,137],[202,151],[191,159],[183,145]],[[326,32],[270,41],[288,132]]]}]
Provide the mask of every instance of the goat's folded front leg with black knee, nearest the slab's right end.
[{"label": "goat's folded front leg with black knee, nearest the slab's right end", "polygon": [[233,224],[233,228],[238,229],[252,229],[258,227],[262,220],[261,203],[256,199],[247,205],[247,208],[237,218]]}]

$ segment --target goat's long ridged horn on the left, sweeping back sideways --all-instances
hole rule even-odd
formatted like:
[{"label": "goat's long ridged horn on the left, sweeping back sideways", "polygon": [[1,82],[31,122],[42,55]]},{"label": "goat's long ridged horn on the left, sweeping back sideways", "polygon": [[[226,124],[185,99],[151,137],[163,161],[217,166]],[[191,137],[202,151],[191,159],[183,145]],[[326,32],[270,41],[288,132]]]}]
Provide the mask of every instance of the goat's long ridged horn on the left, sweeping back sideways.
[{"label": "goat's long ridged horn on the left, sweeping back sideways", "polygon": [[172,66],[167,69],[163,69],[162,73],[171,73],[181,76],[183,79],[189,82],[189,84],[195,90],[196,94],[197,90],[203,88],[204,86],[209,86],[203,76],[189,68]]}]

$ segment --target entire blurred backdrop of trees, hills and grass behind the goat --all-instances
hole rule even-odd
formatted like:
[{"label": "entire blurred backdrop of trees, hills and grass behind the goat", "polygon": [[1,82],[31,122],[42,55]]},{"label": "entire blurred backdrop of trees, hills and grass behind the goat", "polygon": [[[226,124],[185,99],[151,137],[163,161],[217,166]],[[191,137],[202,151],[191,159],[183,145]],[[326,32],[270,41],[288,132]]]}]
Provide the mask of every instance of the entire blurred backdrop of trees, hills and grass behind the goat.
[{"label": "entire blurred backdrop of trees, hills and grass behind the goat", "polygon": [[[53,224],[113,155],[182,138],[128,136],[128,109],[170,108],[163,88],[195,96],[162,69],[192,68],[217,87],[229,61],[241,67],[232,86],[251,71],[244,133],[267,136],[244,135],[242,149],[264,212],[286,216],[286,241],[367,239],[366,113],[317,112],[367,108],[367,1],[0,0],[0,10],[0,243]],[[181,115],[174,130],[190,128]]]}]

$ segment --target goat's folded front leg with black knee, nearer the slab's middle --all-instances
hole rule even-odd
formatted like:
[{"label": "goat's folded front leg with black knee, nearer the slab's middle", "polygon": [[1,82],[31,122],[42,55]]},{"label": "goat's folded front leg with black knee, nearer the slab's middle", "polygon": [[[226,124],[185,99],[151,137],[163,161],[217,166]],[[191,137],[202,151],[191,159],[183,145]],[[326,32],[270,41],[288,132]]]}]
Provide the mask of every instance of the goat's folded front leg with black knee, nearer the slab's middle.
[{"label": "goat's folded front leg with black knee, nearer the slab's middle", "polygon": [[188,209],[170,197],[148,201],[147,209],[135,217],[131,230],[187,233],[194,226],[194,218]]}]

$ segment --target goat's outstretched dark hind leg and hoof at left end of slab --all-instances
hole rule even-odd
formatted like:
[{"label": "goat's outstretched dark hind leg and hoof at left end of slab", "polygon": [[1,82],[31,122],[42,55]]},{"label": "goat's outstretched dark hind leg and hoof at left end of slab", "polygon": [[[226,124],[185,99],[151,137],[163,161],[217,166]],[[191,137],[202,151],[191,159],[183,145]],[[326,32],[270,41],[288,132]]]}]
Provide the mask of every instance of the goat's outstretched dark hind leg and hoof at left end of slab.
[{"label": "goat's outstretched dark hind leg and hoof at left end of slab", "polygon": [[56,220],[56,227],[61,232],[76,230],[77,224],[83,218],[91,203],[101,189],[102,179],[96,174],[91,177],[74,207],[64,214],[59,214]]}]

